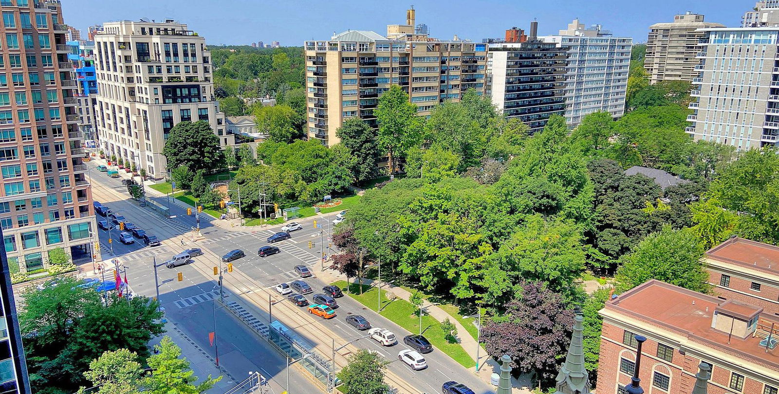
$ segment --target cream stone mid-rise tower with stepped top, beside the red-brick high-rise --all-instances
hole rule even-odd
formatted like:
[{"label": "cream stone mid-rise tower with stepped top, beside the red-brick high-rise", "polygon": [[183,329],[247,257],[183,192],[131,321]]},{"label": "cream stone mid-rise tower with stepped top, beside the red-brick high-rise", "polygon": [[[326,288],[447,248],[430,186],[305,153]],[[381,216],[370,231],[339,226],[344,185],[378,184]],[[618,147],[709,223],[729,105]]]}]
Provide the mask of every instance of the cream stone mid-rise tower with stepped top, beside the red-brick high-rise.
[{"label": "cream stone mid-rise tower with stepped top, beside the red-brick high-rise", "polygon": [[129,160],[155,179],[167,169],[168,132],[207,121],[221,146],[234,145],[213,97],[210,51],[187,25],[123,20],[95,32],[97,131],[107,157]]}]

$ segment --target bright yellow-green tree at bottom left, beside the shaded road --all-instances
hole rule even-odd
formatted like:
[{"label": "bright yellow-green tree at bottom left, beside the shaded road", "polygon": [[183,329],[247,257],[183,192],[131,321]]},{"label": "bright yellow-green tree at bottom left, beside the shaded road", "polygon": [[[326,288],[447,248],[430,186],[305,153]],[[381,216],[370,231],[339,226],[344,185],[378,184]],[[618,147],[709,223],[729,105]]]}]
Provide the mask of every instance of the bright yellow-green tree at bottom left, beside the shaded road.
[{"label": "bright yellow-green tree at bottom left, beside the shaded road", "polygon": [[213,387],[216,382],[221,380],[221,376],[211,378],[209,375],[206,380],[199,385],[195,385],[198,378],[195,372],[189,368],[189,361],[186,358],[180,358],[182,350],[165,336],[159,345],[154,346],[157,350],[147,362],[149,368],[152,368],[150,376],[143,379],[144,392],[151,394],[199,394]]}]

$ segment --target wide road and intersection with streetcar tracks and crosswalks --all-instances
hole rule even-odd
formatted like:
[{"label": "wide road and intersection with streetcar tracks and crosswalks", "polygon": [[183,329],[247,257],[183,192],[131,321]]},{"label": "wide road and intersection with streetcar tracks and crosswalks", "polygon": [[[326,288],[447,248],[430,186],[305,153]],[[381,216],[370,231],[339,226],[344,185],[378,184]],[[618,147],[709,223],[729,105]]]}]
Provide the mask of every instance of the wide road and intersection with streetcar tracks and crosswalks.
[{"label": "wide road and intersection with streetcar tracks and crosswalks", "polygon": [[[305,308],[294,307],[291,302],[284,300],[284,297],[273,294],[272,289],[278,283],[299,279],[294,273],[294,266],[307,265],[311,266],[315,272],[319,271],[321,253],[329,254],[332,252],[332,250],[328,250],[327,240],[333,230],[329,224],[336,213],[298,220],[303,226],[303,230],[291,232],[292,238],[290,240],[273,244],[281,249],[281,253],[260,258],[257,255],[257,250],[268,244],[266,238],[277,232],[278,226],[266,229],[258,227],[256,230],[227,230],[213,225],[211,220],[214,219],[209,216],[201,216],[200,227],[205,239],[193,243],[189,236],[182,235],[182,228],[187,229],[196,225],[194,217],[186,215],[185,208],[171,203],[171,214],[176,217],[174,220],[162,220],[126,200],[129,195],[119,179],[108,178],[104,173],[96,171],[92,171],[92,175],[94,199],[103,202],[113,211],[122,213],[128,220],[148,233],[157,235],[163,241],[163,245],[156,248],[145,248],[137,242],[136,244],[124,245],[118,243],[116,239],[112,242],[115,255],[119,257],[122,264],[128,267],[128,280],[133,291],[139,294],[153,295],[152,262],[155,258],[159,263],[184,248],[203,248],[203,251],[206,252],[206,255],[196,258],[196,264],[190,266],[179,266],[175,269],[160,267],[160,282],[174,279],[178,272],[182,272],[184,276],[182,282],[174,280],[160,287],[160,301],[166,308],[167,317],[171,322],[175,322],[186,335],[195,340],[206,351],[213,350],[208,343],[208,332],[213,331],[214,322],[216,322],[220,361],[227,368],[227,371],[231,371],[236,378],[245,376],[246,371],[262,370],[266,371],[275,382],[285,382],[286,379],[285,376],[279,377],[285,367],[284,358],[277,357],[277,354],[268,349],[266,343],[263,343],[263,339],[257,338],[249,329],[241,325],[242,323],[238,323],[225,311],[217,310],[215,314],[213,312],[213,301],[210,300],[218,294],[218,290],[215,287],[217,283],[214,280],[215,277],[209,277],[211,267],[220,265],[219,256],[239,248],[245,252],[246,257],[235,260],[233,266],[236,273],[240,273],[241,280],[237,280],[238,275],[235,275],[234,278],[225,278],[226,281],[235,281],[234,291],[227,293],[229,294],[227,301],[238,298],[241,300],[249,300],[250,298],[267,300],[268,297],[271,297],[274,304],[273,319],[278,319],[298,335],[305,337],[318,347],[326,357],[330,357],[330,352],[323,351],[323,349],[329,349],[333,339],[336,339],[338,347],[365,335],[364,332],[357,331],[344,321],[347,315],[360,314],[367,318],[372,325],[395,332],[400,341],[393,347],[381,347],[372,339],[360,339],[353,343],[354,347],[379,352],[382,357],[390,361],[388,365],[390,374],[410,383],[418,392],[441,392],[442,383],[449,380],[462,382],[478,394],[493,392],[490,385],[482,382],[474,373],[438,350],[434,350],[431,354],[425,354],[428,368],[422,371],[411,370],[397,358],[400,350],[407,349],[402,339],[409,332],[365,308],[351,297],[338,298],[340,307],[336,310],[336,318],[326,321],[312,321],[311,315],[305,313]],[[155,200],[167,206],[164,197]],[[313,224],[314,220],[317,220],[319,224],[324,223],[323,228],[316,228]],[[170,223],[171,221],[174,223]],[[178,226],[175,225],[176,223],[179,223]],[[112,233],[116,238],[115,231]],[[185,241],[183,246],[182,240]],[[309,248],[309,241],[312,243],[311,248]],[[100,243],[105,258],[110,254],[105,248],[108,246],[108,233],[103,230],[100,230]],[[315,293],[329,284],[317,277],[306,278],[305,281],[314,288]],[[310,296],[308,300],[311,301]],[[257,301],[255,303],[259,304]],[[247,308],[251,307],[247,306]],[[263,315],[266,309],[258,307],[253,311],[258,315],[257,318],[267,319],[268,316]],[[340,353],[339,357],[347,355],[348,352],[346,354]],[[312,389],[313,385],[294,371],[291,375],[293,377],[297,375],[298,378],[291,385],[300,385],[302,391],[298,390],[298,392],[319,392],[319,389]]]}]

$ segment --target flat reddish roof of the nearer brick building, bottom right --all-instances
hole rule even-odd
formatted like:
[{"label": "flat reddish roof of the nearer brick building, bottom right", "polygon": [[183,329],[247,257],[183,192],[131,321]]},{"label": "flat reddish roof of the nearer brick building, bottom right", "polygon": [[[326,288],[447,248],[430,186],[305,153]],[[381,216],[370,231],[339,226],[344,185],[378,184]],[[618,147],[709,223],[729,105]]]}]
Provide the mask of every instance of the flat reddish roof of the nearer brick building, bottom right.
[{"label": "flat reddish roof of the nearer brick building, bottom right", "polygon": [[[766,351],[765,347],[759,345],[760,336],[747,336],[746,339],[732,336],[728,343],[727,332],[711,328],[714,311],[725,315],[729,315],[728,311],[749,315],[755,312],[756,307],[752,305],[726,301],[658,280],[650,280],[607,302],[605,308],[633,315],[660,328],[686,333],[693,343],[719,347],[736,354],[737,357],[779,370],[779,348]],[[762,308],[758,309],[762,311]],[[739,317],[738,315],[736,317]],[[760,313],[760,322],[770,325],[770,322],[779,322],[779,318]],[[758,325],[759,328],[764,326],[760,323]]]}]

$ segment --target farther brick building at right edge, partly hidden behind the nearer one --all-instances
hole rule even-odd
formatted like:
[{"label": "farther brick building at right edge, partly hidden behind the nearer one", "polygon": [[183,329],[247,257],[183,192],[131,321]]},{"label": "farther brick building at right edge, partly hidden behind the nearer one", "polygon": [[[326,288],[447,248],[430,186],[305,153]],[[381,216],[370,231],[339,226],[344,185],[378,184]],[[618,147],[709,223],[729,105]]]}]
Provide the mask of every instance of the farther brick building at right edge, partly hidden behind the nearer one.
[{"label": "farther brick building at right edge, partly hidden behind the nearer one", "polygon": [[733,237],[705,259],[714,294],[779,314],[779,248]]}]

